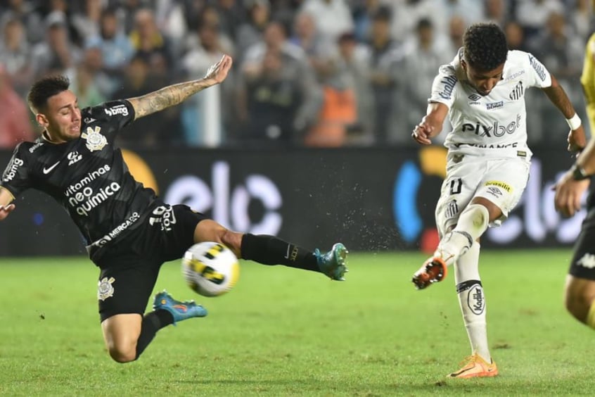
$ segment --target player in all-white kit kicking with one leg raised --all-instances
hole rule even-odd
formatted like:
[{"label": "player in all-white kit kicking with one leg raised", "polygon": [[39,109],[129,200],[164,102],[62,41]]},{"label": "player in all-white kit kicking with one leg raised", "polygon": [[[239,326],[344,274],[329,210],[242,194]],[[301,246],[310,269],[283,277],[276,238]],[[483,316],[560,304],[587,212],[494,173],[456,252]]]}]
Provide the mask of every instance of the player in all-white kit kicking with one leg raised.
[{"label": "player in all-white kit kicking with one leg raised", "polygon": [[516,206],[529,177],[532,153],[527,147],[525,89],[539,87],[570,125],[568,150],[585,146],[584,130],[556,78],[535,56],[508,51],[506,37],[492,23],[471,25],[463,48],[440,67],[426,116],[412,137],[430,144],[449,116],[452,131],[447,177],[436,206],[440,243],[414,274],[417,289],[440,282],[454,265],[454,281],[471,356],[449,377],[493,377],[498,369],[487,344],[485,296],[478,271],[479,238]]}]

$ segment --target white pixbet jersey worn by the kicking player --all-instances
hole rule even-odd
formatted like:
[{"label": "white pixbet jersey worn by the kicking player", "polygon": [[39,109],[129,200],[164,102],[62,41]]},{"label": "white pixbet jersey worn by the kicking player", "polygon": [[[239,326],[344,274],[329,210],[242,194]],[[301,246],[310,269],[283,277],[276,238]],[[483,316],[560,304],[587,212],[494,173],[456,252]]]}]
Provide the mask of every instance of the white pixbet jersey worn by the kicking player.
[{"label": "white pixbet jersey worn by the kicking player", "polygon": [[428,99],[449,107],[452,131],[447,134],[444,146],[487,149],[485,152],[491,153],[494,151],[490,149],[500,149],[499,156],[517,156],[516,150],[520,149],[530,157],[525,89],[550,87],[548,70],[530,53],[508,51],[502,80],[490,94],[481,96],[467,80],[462,57],[463,49],[460,49],[452,63],[440,67]]}]

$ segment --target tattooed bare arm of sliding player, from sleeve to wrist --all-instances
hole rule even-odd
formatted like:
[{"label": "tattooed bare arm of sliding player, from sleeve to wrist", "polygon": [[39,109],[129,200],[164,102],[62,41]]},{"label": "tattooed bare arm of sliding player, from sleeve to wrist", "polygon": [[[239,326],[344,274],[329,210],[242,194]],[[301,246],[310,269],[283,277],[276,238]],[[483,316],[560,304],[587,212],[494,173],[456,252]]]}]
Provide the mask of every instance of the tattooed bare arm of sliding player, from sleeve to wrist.
[{"label": "tattooed bare arm of sliding player, from sleeve to wrist", "polygon": [[128,101],[134,108],[135,119],[141,118],[151,113],[162,111],[170,106],[175,106],[185,101],[188,96],[196,94],[205,88],[216,84],[211,80],[200,79],[189,82],[181,82],[179,84],[169,85],[150,92],[143,96],[136,96],[130,98]]}]

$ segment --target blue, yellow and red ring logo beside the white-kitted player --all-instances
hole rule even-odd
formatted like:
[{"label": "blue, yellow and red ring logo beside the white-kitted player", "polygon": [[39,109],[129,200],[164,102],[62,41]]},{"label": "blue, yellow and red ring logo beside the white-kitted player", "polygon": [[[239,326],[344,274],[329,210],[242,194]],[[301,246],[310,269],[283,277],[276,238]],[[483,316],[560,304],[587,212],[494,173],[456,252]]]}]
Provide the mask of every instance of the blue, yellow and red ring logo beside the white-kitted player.
[{"label": "blue, yellow and red ring logo beside the white-kitted player", "polygon": [[435,179],[446,177],[446,163],[446,148],[424,146],[418,160],[405,161],[395,179],[392,213],[397,231],[407,244],[419,241],[423,251],[433,251],[438,244],[434,209],[440,184]]}]

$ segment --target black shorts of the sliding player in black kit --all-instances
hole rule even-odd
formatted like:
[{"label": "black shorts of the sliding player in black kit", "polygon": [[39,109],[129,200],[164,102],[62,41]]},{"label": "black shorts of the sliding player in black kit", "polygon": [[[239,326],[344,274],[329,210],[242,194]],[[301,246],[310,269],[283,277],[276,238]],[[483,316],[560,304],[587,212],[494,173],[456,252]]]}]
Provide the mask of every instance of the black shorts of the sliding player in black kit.
[{"label": "black shorts of the sliding player in black kit", "polygon": [[101,321],[124,313],[145,313],[164,262],[184,256],[194,229],[207,217],[188,206],[162,203],[139,226],[97,260],[101,268],[97,298]]}]

